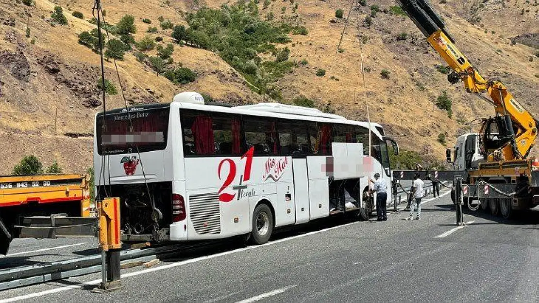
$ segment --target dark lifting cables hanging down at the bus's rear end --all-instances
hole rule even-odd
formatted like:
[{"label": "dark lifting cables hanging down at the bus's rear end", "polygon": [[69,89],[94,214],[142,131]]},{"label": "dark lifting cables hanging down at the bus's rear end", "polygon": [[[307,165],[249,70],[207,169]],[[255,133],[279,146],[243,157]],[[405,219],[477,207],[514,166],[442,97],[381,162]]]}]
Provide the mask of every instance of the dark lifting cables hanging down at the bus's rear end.
[{"label": "dark lifting cables hanging down at the bus's rear end", "polygon": [[[93,11],[92,11],[92,15],[94,15],[94,18],[95,18],[95,14],[94,14],[94,11],[97,11],[97,20],[98,20],[98,39],[99,39],[99,46],[100,46],[100,58],[101,58],[101,81],[102,81],[102,85],[101,85],[101,89],[103,91],[102,93],[102,102],[103,102],[103,125],[105,125],[105,128],[106,128],[106,114],[105,114],[105,66],[103,64],[103,40],[102,40],[102,37],[101,37],[101,22],[100,22],[100,17],[103,18],[103,24],[105,24],[105,32],[107,34],[107,39],[110,40],[110,36],[109,36],[109,33],[108,33],[108,29],[107,29],[107,23],[105,21],[105,16],[103,15],[103,9],[102,9],[102,6],[101,6],[101,3],[100,3],[100,0],[95,0],[95,4],[94,4],[94,8],[93,8]],[[116,76],[118,76],[118,82],[120,84],[120,91],[122,92],[122,99],[123,99],[123,104],[125,104],[125,109],[127,111],[127,118],[128,118],[128,121],[129,121],[129,126],[131,127],[131,130],[133,130],[133,121],[131,119],[131,114],[128,110],[128,105],[127,105],[127,100],[126,100],[126,96],[125,96],[125,93],[123,92],[123,84],[122,84],[122,80],[121,80],[121,77],[120,77],[120,72],[118,71],[118,65],[116,64],[116,59],[113,57],[113,62],[114,62],[114,68],[115,68],[115,71],[116,71]],[[140,161],[140,167],[141,167],[141,170],[142,170],[142,176],[144,177],[144,185],[146,186],[146,191],[148,193],[148,199],[150,199],[150,207],[151,207],[151,214],[154,214],[154,212],[156,211],[156,207],[155,207],[155,200],[153,198],[153,196],[151,195],[150,193],[150,188],[148,186],[148,180],[146,178],[146,173],[144,172],[144,165],[142,163],[142,158],[140,157],[140,150],[139,150],[139,144],[135,143],[135,147],[136,147],[136,153],[137,153],[137,156],[139,157],[139,161]],[[108,154],[107,154],[107,164],[108,164],[108,182],[109,182],[109,187],[110,187],[110,161],[108,159]],[[104,158],[103,158],[103,162],[104,162]],[[101,170],[102,170],[102,166],[101,166]],[[104,174],[104,172],[103,172]],[[101,173],[100,173],[100,176],[99,176],[99,180],[101,181]],[[103,186],[103,188],[105,188],[105,186]],[[105,194],[107,195],[107,193],[105,192]],[[111,194],[112,194],[112,191],[111,191]],[[151,219],[154,221],[154,230],[157,230],[158,229],[158,216],[157,215],[151,215],[150,216]]]}]

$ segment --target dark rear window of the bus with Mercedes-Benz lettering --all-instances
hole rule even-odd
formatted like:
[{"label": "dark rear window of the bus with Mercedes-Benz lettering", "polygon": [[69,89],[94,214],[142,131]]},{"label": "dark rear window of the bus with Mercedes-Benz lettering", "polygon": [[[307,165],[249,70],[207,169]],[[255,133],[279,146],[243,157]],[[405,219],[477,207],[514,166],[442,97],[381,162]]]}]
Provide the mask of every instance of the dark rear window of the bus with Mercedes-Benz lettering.
[{"label": "dark rear window of the bus with Mercedes-Benz lettering", "polygon": [[[122,154],[167,147],[170,107],[140,107],[107,112],[96,117],[98,153]],[[138,149],[137,149],[138,148]]]}]

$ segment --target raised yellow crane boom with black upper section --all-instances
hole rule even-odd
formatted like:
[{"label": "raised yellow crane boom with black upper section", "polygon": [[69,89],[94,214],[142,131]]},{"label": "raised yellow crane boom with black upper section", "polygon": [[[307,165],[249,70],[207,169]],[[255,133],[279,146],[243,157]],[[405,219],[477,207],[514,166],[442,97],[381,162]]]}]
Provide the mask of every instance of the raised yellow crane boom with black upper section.
[{"label": "raised yellow crane boom with black upper section", "polygon": [[[448,74],[449,82],[464,82],[466,91],[479,95],[483,100],[493,104],[496,111],[497,139],[501,145],[492,152],[487,146],[483,150],[488,161],[517,160],[528,156],[537,137],[536,119],[518,103],[502,82],[485,79],[476,68],[462,55],[454,45],[455,41],[446,30],[443,20],[434,12],[426,0],[398,0],[400,6],[412,22],[427,37],[429,44],[447,62],[452,72]],[[483,96],[487,93],[490,98]],[[488,121],[488,120],[486,120]],[[481,132],[489,133],[489,123],[483,123]],[[488,140],[483,135],[483,144]]]}]

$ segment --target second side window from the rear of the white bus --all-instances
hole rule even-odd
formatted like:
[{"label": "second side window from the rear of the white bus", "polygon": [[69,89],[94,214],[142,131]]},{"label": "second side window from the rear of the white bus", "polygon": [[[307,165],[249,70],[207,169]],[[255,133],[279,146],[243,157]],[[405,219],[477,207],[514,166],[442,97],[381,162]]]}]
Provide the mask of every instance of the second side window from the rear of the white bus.
[{"label": "second side window from the rear of the white bus", "polygon": [[277,128],[275,120],[243,116],[247,150],[254,146],[254,156],[277,156]]}]

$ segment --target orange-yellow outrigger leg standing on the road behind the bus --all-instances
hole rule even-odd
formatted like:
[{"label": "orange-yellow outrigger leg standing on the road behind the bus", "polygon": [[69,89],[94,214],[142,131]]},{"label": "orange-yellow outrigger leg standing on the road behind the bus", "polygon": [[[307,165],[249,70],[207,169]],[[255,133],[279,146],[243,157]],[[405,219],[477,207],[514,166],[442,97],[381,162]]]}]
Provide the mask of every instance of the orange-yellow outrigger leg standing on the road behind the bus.
[{"label": "orange-yellow outrigger leg standing on the road behind the bus", "polygon": [[99,249],[101,250],[101,284],[93,292],[116,290],[120,283],[120,198],[97,201]]}]

